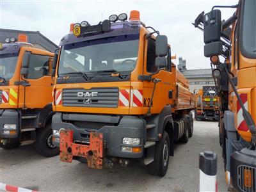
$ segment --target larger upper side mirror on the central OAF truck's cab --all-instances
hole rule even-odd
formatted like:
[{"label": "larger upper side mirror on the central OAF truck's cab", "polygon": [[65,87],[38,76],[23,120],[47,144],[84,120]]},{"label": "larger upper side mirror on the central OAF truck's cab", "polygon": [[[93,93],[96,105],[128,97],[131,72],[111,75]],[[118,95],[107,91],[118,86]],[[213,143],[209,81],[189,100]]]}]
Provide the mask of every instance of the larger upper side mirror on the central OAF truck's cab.
[{"label": "larger upper side mirror on the central OAF truck's cab", "polygon": [[165,35],[156,36],[156,56],[165,57],[168,54],[168,40]]}]

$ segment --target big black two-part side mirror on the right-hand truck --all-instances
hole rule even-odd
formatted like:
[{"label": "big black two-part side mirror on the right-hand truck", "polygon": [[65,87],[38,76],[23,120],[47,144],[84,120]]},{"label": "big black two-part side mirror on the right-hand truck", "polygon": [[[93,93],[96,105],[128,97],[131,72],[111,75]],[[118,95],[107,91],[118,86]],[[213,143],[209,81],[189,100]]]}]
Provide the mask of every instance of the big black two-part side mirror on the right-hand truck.
[{"label": "big black two-part side mirror on the right-hand truck", "polygon": [[220,55],[223,53],[221,43],[221,12],[212,10],[204,15],[204,56]]}]

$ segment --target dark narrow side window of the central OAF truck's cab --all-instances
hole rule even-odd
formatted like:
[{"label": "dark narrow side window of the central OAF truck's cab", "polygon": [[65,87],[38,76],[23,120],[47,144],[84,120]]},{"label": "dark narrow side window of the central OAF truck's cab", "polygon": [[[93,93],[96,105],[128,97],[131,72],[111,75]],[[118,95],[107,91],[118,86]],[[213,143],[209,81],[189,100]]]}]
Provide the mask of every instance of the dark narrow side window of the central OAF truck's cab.
[{"label": "dark narrow side window of the central OAF truck's cab", "polygon": [[155,65],[156,59],[156,42],[152,38],[148,39],[148,50],[147,50],[147,72],[154,73],[157,71]]}]

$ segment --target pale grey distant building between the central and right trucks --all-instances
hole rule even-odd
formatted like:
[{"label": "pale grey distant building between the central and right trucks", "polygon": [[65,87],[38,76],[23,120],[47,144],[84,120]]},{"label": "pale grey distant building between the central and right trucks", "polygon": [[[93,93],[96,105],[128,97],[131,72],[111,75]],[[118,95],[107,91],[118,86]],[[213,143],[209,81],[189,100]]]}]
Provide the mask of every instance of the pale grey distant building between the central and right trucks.
[{"label": "pale grey distant building between the central and right trucks", "polygon": [[203,86],[214,86],[211,68],[187,69],[186,60],[179,58],[178,68],[189,81],[189,90],[199,90]]}]

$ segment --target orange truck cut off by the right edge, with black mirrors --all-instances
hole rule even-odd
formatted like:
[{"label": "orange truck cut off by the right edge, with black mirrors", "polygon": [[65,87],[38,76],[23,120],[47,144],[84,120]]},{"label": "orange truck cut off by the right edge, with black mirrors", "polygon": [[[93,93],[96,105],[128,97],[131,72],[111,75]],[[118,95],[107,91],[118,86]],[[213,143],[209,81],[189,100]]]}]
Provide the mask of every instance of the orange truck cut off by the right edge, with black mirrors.
[{"label": "orange truck cut off by the right edge, with black mirrors", "polygon": [[[236,8],[236,12],[221,21],[216,8]],[[214,6],[196,18],[195,26],[204,31],[204,55],[211,60],[220,95],[227,184],[238,191],[256,191],[256,1]]]}]

